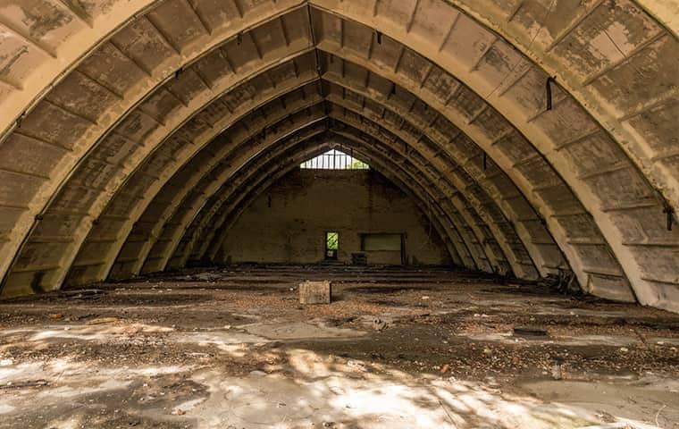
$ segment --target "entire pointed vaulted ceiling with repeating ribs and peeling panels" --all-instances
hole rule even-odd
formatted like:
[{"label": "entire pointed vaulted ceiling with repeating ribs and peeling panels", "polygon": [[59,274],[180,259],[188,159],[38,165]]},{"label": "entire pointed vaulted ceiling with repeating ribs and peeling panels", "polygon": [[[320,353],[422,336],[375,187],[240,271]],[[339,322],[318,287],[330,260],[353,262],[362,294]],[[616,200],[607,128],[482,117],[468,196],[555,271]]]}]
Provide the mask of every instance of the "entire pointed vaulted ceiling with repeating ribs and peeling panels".
[{"label": "entire pointed vaulted ceiling with repeating ribs and peeling panels", "polygon": [[677,16],[675,0],[4,1],[2,292],[214,260],[248,201],[340,144],[459,265],[572,271],[679,311]]}]

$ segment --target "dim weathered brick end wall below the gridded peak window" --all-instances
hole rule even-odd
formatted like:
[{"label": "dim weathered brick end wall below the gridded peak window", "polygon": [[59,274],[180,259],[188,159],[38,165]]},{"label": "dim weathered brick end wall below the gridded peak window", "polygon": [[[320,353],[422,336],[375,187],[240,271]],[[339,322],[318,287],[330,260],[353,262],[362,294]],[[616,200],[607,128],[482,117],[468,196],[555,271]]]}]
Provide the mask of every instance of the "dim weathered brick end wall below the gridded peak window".
[{"label": "dim weathered brick end wall below the gridded peak window", "polygon": [[[270,199],[271,198],[271,199]],[[271,206],[269,206],[271,202]],[[340,262],[361,251],[362,233],[405,233],[410,264],[448,265],[448,252],[415,202],[374,171],[296,170],[264,192],[234,224],[224,261],[323,261],[324,232],[339,232]],[[398,264],[398,252],[365,252],[368,264]]]}]

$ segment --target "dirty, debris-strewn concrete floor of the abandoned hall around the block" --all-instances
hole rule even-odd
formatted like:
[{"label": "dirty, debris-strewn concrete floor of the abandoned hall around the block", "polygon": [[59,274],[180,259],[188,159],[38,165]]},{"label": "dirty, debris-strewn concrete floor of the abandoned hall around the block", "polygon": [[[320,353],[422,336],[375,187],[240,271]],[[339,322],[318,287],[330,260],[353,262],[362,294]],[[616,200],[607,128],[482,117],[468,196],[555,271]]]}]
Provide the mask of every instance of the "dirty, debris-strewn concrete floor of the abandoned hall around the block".
[{"label": "dirty, debris-strewn concrete floor of the abandoned hall around the block", "polygon": [[[300,306],[306,279],[334,302]],[[656,309],[338,266],[96,288],[0,303],[0,428],[679,428]]]}]

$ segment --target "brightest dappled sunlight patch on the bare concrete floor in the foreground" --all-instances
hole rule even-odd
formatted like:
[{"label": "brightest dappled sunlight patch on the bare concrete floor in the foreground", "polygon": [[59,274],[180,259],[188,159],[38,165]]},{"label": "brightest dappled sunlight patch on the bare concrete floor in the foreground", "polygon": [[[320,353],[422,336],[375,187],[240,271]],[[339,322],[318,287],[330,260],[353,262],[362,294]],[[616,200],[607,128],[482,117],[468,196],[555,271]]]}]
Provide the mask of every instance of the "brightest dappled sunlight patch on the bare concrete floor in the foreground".
[{"label": "brightest dappled sunlight patch on the bare concrete floor in the foreground", "polygon": [[[574,415],[572,410],[546,407],[529,397],[506,397],[497,389],[480,383],[461,382],[433,375],[415,376],[391,366],[369,365],[306,349],[289,349],[287,377],[277,374],[248,376],[245,384],[262,389],[271,380],[283,395],[303,403],[315,401],[315,415],[323,421],[344,425],[343,416],[352,416],[346,427],[579,427],[595,421],[591,416]],[[264,381],[257,381],[258,378]],[[271,379],[271,380],[270,380]],[[239,389],[243,389],[243,384]],[[247,387],[246,387],[247,390]],[[235,399],[234,396],[232,399]],[[262,402],[248,412],[271,415],[273,404]],[[275,422],[268,422],[274,424]],[[290,427],[295,427],[290,426]],[[339,427],[339,426],[338,426]]]}]

